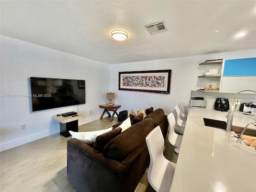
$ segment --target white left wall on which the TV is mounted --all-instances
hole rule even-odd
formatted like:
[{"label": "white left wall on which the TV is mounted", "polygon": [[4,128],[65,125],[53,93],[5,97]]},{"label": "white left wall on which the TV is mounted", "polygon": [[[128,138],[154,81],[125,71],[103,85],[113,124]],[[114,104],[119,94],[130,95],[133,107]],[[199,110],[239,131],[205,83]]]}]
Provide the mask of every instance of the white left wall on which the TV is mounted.
[{"label": "white left wall on which the TV is mounted", "polygon": [[[99,118],[110,91],[108,64],[60,52],[1,35],[0,150],[6,150],[60,132],[52,116],[68,111],[84,114],[79,124]],[[29,77],[81,79],[86,82],[86,104],[32,112],[30,98],[3,97],[29,94]],[[20,126],[26,124],[26,129]]]}]

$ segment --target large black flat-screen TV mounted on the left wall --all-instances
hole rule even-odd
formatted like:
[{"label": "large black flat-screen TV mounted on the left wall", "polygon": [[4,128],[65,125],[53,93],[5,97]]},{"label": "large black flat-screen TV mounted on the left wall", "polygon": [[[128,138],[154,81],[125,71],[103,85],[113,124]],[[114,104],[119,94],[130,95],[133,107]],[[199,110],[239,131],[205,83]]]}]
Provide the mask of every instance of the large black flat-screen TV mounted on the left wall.
[{"label": "large black flat-screen TV mounted on the left wall", "polygon": [[32,111],[85,104],[85,80],[30,77]]}]

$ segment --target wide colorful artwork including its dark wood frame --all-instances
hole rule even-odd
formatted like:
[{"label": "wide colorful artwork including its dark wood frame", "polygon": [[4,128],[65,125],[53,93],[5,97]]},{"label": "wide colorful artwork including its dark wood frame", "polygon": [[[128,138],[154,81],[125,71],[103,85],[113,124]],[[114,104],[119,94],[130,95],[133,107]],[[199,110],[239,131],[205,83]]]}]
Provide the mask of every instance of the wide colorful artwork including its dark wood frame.
[{"label": "wide colorful artwork including its dark wood frame", "polygon": [[118,90],[170,94],[171,71],[119,72]]}]

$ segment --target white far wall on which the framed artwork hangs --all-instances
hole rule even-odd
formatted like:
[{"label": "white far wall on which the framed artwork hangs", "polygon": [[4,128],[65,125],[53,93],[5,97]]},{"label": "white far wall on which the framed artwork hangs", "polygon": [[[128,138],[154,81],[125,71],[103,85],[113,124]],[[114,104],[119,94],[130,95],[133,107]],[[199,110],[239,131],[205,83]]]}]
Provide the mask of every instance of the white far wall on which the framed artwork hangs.
[{"label": "white far wall on which the framed artwork hangs", "polygon": [[[122,104],[120,111],[137,111],[153,106],[154,109],[163,108],[165,114],[169,114],[180,101],[189,104],[190,91],[196,90],[197,77],[200,75],[199,63],[208,59],[255,57],[255,54],[256,50],[245,50],[111,65],[110,91],[116,93],[113,102]],[[172,70],[170,94],[118,90],[118,72],[164,69]]]}]

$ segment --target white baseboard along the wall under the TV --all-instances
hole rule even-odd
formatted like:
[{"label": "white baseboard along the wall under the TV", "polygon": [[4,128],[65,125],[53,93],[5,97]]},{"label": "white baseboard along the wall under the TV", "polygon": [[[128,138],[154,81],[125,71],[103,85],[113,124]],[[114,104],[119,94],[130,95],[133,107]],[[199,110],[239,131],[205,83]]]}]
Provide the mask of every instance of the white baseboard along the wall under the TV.
[{"label": "white baseboard along the wall under the TV", "polygon": [[[106,116],[108,116],[108,115],[107,114],[104,115],[104,117],[106,117]],[[79,120],[78,121],[78,126],[89,123],[89,122],[92,122],[94,120],[98,120],[98,119],[100,119],[99,115],[94,116],[92,118],[82,120],[82,121]],[[30,135],[30,136],[27,136],[27,137],[24,137],[24,138],[20,138],[20,139],[14,140],[14,141],[10,141],[10,142],[7,142],[7,143],[0,144],[0,152],[11,149],[11,148],[14,148],[14,147],[18,147],[20,145],[24,145],[26,143],[29,143],[29,142],[32,142],[32,141],[35,141],[35,140],[38,140],[38,139],[42,139],[44,137],[47,137],[47,136],[50,136],[50,135],[53,135],[53,134],[56,134],[56,133],[59,133],[59,132],[60,132],[60,128],[58,127],[56,129],[51,129],[51,130],[44,131],[44,132],[41,132],[41,133],[38,133],[38,134]]]}]

